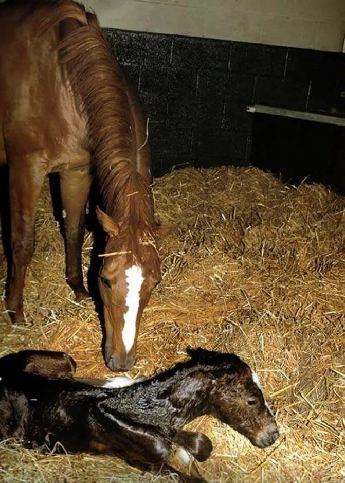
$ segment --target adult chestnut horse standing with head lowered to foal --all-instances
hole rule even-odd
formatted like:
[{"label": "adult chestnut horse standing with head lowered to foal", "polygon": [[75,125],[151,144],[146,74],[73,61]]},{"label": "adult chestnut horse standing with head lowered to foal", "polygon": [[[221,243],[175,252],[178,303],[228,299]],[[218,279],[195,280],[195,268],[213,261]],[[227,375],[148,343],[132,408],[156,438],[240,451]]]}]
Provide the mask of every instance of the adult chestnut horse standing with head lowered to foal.
[{"label": "adult chestnut horse standing with head lowered to foal", "polygon": [[85,204],[97,177],[107,234],[99,288],[105,359],[113,370],[136,359],[142,311],[160,281],[150,189],[147,122],[135,90],[96,17],[72,0],[8,0],[0,6],[0,162],[9,166],[13,266],[6,299],[21,322],[34,249],[34,216],[47,173],[59,172],[66,278],[83,284]]}]

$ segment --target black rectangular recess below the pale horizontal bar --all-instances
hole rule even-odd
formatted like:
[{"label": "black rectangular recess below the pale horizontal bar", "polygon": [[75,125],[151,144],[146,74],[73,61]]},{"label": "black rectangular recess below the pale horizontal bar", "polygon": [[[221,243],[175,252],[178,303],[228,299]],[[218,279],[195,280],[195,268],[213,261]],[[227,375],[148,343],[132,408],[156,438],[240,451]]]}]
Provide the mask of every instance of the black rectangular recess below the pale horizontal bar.
[{"label": "black rectangular recess below the pale horizontal bar", "polygon": [[255,114],[251,164],[283,182],[302,180],[345,194],[345,128],[267,114]]}]

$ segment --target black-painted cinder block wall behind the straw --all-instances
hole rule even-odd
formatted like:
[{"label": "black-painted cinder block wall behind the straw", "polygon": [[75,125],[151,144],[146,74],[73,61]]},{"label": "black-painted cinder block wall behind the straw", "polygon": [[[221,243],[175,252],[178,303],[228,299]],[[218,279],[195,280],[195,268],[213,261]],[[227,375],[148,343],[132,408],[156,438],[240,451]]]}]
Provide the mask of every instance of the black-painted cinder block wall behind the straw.
[{"label": "black-painted cinder block wall behind the straw", "polygon": [[248,165],[247,105],[329,110],[340,53],[104,29],[150,118],[153,174],[175,165]]}]

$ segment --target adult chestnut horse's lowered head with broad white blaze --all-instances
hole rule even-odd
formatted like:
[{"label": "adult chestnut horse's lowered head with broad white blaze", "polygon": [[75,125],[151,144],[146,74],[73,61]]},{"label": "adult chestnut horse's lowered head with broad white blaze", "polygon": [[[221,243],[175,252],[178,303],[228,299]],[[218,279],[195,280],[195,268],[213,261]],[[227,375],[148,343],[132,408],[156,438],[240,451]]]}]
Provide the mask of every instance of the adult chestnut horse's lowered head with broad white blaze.
[{"label": "adult chestnut horse's lowered head with broad white blaze", "polygon": [[128,231],[99,208],[97,214],[108,235],[98,276],[104,306],[105,360],[114,371],[130,369],[136,361],[143,309],[161,279],[158,229],[147,236],[144,231]]}]

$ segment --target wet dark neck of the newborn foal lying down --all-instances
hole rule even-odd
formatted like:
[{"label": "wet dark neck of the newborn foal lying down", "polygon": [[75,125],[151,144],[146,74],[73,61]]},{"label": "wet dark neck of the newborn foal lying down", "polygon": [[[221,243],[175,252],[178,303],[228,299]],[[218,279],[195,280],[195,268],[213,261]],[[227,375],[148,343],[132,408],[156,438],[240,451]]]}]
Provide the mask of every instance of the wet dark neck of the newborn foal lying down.
[{"label": "wet dark neck of the newborn foal lying down", "polygon": [[118,392],[104,404],[132,421],[173,435],[188,422],[209,412],[210,384],[197,369],[182,370]]}]

